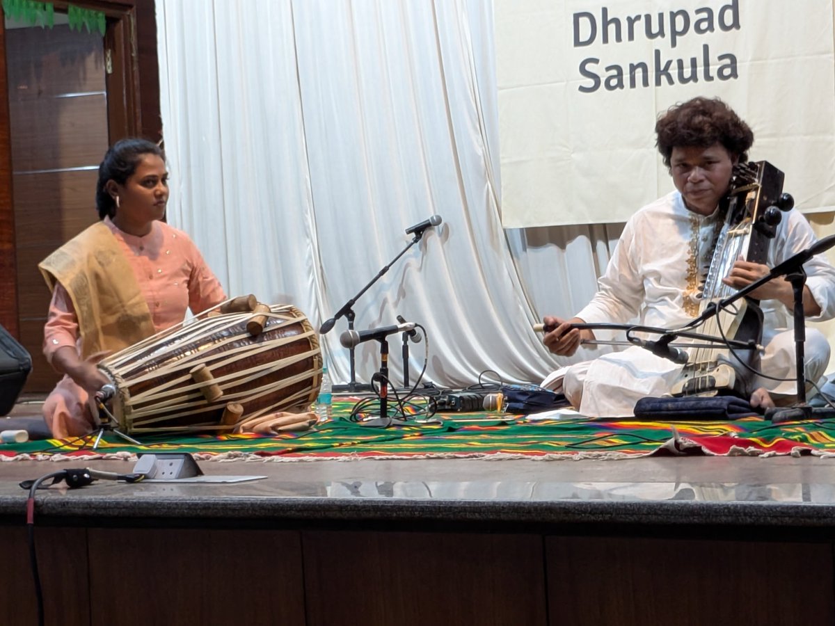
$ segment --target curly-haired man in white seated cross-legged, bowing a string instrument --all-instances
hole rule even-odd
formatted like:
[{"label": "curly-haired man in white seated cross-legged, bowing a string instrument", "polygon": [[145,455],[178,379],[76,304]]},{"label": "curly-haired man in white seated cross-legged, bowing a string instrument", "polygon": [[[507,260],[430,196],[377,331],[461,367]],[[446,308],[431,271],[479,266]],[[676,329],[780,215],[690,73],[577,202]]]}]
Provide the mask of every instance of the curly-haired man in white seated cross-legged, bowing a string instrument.
[{"label": "curly-haired man in white seated cross-legged, bowing a string instrument", "polygon": [[[658,120],[655,133],[676,191],[632,215],[589,305],[567,321],[544,317],[546,326],[555,326],[544,336],[544,345],[556,355],[574,355],[581,341],[595,340],[594,331],[573,328],[573,324],[637,320],[644,326],[675,329],[699,314],[703,269],[710,265],[711,248],[723,220],[721,199],[729,191],[734,165],[746,162],[754,137],[748,125],[718,98],[693,98],[672,107]],[[736,260],[722,282],[741,289],[815,241],[806,218],[789,210],[768,246],[767,262]],[[817,255],[804,269],[807,319],[832,318],[835,268]],[[751,406],[790,402],[797,389],[792,285],[772,280],[750,296],[761,301],[764,315],[765,350],[759,371],[782,379],[756,376],[749,390]],[[805,356],[805,376],[817,381],[829,362],[829,345],[819,331],[807,329]],[[584,415],[630,416],[640,398],[669,394],[683,367],[632,346],[570,366],[562,386]]]}]

